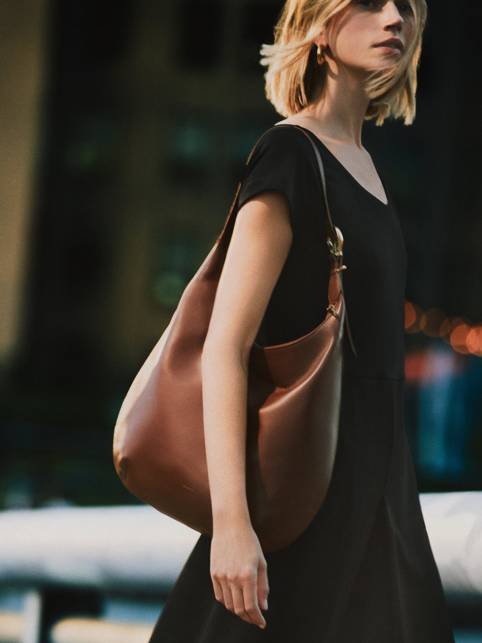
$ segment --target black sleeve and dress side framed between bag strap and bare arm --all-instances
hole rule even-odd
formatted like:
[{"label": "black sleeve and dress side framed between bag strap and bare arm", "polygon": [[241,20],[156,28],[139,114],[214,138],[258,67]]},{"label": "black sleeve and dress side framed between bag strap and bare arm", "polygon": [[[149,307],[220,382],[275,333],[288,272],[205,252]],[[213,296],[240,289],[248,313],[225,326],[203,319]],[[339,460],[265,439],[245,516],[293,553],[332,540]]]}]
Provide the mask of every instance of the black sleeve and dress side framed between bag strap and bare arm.
[{"label": "black sleeve and dress side framed between bag strap and bare arm", "polygon": [[249,159],[238,207],[265,190],[286,195],[293,233],[291,248],[256,337],[262,346],[296,340],[326,314],[329,260],[323,190],[308,138],[291,125],[263,136]]}]

